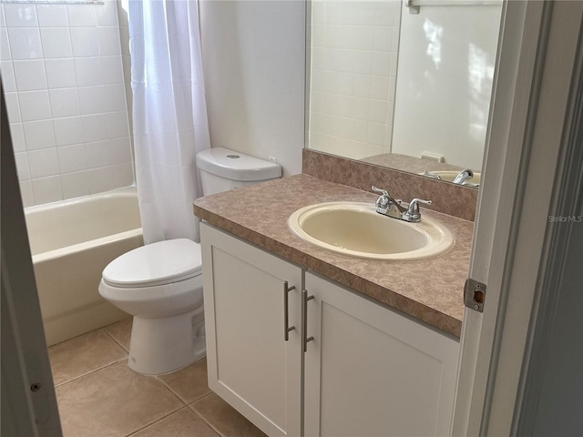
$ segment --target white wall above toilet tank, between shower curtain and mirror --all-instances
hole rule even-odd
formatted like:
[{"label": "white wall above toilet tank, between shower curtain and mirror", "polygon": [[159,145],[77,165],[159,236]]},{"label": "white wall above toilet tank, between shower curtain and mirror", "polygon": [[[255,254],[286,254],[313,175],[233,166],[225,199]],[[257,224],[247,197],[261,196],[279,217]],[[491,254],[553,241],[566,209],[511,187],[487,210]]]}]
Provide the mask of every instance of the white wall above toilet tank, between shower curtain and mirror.
[{"label": "white wall above toilet tank, between shower curtain and mirror", "polygon": [[302,171],[305,4],[200,2],[212,147]]}]

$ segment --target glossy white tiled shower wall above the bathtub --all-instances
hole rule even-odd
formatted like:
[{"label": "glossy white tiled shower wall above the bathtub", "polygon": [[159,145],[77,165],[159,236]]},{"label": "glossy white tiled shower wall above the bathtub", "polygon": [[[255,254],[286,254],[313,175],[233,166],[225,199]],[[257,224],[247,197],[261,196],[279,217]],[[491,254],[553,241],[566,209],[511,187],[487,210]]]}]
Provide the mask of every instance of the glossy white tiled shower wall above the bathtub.
[{"label": "glossy white tiled shower wall above the bathtub", "polygon": [[0,5],[0,56],[25,206],[134,181],[115,0]]}]

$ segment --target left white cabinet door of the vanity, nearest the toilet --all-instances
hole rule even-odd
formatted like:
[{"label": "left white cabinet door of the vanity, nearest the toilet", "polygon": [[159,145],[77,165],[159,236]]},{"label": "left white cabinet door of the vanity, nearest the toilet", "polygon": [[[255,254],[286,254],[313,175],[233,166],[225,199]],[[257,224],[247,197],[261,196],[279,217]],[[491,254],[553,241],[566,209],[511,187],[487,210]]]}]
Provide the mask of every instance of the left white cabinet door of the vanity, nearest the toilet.
[{"label": "left white cabinet door of the vanity, nearest the toilet", "polygon": [[207,223],[200,234],[210,389],[261,431],[300,435],[302,269]]}]

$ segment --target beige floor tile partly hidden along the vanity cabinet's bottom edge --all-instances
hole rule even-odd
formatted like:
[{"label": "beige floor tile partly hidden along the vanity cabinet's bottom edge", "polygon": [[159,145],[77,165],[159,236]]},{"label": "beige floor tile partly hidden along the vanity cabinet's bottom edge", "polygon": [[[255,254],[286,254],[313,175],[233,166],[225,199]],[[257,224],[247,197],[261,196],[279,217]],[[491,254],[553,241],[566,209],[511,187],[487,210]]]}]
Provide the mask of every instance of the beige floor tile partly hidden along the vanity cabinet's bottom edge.
[{"label": "beige floor tile partly hidden along the vanity cabinet's bottom edge", "polygon": [[220,399],[215,393],[190,404],[205,421],[209,422],[225,437],[260,437],[263,432]]}]

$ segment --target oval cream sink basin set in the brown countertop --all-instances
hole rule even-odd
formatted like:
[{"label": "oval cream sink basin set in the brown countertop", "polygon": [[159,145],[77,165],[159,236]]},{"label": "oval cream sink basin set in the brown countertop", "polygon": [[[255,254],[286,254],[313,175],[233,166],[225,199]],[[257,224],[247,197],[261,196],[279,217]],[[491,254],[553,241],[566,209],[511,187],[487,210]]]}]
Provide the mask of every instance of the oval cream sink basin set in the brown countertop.
[{"label": "oval cream sink basin set in the brown countertop", "polygon": [[408,223],[378,214],[369,203],[311,205],[295,211],[288,225],[314,246],[361,259],[426,259],[454,245],[449,230],[434,220]]}]

